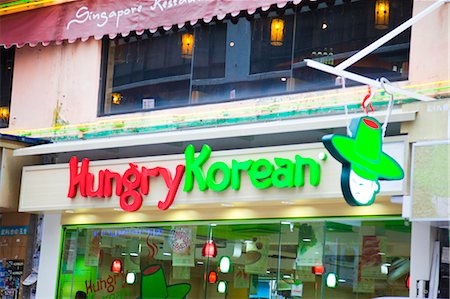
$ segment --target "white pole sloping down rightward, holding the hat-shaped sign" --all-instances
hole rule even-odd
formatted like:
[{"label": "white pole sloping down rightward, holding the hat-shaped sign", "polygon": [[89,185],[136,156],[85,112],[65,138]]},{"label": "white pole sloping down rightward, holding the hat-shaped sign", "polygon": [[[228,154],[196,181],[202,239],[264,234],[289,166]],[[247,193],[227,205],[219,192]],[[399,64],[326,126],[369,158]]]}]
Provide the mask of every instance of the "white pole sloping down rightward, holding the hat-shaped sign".
[{"label": "white pole sloping down rightward, holding the hat-shaped sign", "polygon": [[382,84],[380,81],[373,80],[373,79],[370,79],[370,78],[367,78],[367,77],[364,77],[364,76],[361,76],[361,75],[358,75],[355,73],[351,73],[348,71],[339,70],[336,67],[332,67],[332,66],[329,66],[329,65],[311,60],[311,59],[305,59],[304,61],[306,62],[307,66],[317,69],[319,71],[323,71],[323,72],[326,72],[329,74],[340,76],[340,77],[343,77],[343,78],[346,78],[346,79],[349,79],[352,81],[356,81],[356,82],[359,82],[359,83],[362,83],[365,85],[375,86],[378,88],[386,88],[386,91],[389,93],[398,93],[398,94],[404,95],[406,97],[418,99],[420,101],[434,101],[435,100],[432,97],[428,97],[428,96],[422,95],[417,92],[398,88],[398,87],[395,87],[393,85],[386,84],[386,83]]}]

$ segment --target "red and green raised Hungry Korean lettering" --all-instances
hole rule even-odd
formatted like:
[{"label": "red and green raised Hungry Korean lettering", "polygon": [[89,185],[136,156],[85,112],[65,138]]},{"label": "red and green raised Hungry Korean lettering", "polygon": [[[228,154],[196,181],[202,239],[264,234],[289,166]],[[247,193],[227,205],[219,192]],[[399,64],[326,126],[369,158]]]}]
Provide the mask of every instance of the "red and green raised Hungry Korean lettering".
[{"label": "red and green raised Hungry Korean lettering", "polygon": [[[120,207],[123,210],[134,212],[142,206],[143,196],[149,194],[152,178],[158,176],[164,179],[167,188],[165,200],[158,202],[160,210],[167,210],[173,204],[183,176],[184,192],[193,191],[195,182],[202,192],[222,192],[230,188],[238,191],[243,175],[250,178],[256,189],[299,188],[305,185],[306,168],[309,169],[311,186],[318,186],[320,183],[320,164],[311,158],[300,155],[295,155],[294,160],[275,157],[273,162],[263,158],[245,161],[233,159],[231,164],[217,161],[206,169],[205,164],[211,153],[211,147],[203,145],[196,157],[194,146],[188,145],[184,152],[184,164],[176,166],[175,175],[166,167],[138,167],[134,163],[129,163],[128,169],[123,173],[102,169],[94,174],[89,171],[89,159],[83,159],[79,167],[77,157],[72,157],[69,162],[70,183],[67,196],[75,198],[79,192],[84,198],[109,198],[114,193],[120,197]],[[95,181],[97,187],[94,186]]]}]

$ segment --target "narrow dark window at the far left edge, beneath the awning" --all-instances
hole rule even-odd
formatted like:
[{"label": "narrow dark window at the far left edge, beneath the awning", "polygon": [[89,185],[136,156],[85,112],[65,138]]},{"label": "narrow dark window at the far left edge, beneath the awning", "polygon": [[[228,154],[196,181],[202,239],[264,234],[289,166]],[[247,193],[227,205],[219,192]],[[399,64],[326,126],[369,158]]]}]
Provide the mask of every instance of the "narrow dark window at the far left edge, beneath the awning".
[{"label": "narrow dark window at the far left edge, beneath the awning", "polygon": [[0,48],[0,128],[9,125],[14,48]]}]

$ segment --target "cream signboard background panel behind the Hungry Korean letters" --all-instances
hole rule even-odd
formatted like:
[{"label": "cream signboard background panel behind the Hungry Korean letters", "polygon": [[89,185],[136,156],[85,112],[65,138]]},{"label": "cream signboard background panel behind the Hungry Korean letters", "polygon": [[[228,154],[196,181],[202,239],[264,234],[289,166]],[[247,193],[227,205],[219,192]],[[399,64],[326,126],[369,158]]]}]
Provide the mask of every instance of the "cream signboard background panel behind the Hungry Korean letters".
[{"label": "cream signboard background panel behind the Hungry Korean letters", "polygon": [[[389,140],[389,139],[388,139]],[[405,166],[405,141],[395,139],[386,142],[383,150],[396,159],[399,164]],[[328,159],[320,160],[319,154],[326,153]],[[198,151],[196,156],[198,155]],[[312,186],[309,181],[309,171],[305,172],[305,185],[294,188],[257,189],[252,185],[247,171],[241,171],[241,186],[239,190],[227,188],[224,191],[216,192],[210,189],[200,191],[197,181],[191,192],[183,191],[186,174],[183,176],[180,187],[176,193],[173,205],[201,205],[236,203],[236,202],[261,202],[261,201],[287,201],[314,198],[341,198],[340,174],[341,164],[331,157],[321,143],[306,145],[289,145],[279,147],[253,148],[244,150],[217,151],[213,150],[209,159],[202,166],[203,172],[207,173],[208,168],[214,162],[224,162],[229,167],[232,160],[246,161],[268,159],[274,163],[274,158],[284,158],[295,162],[296,155],[303,158],[314,159],[320,164],[320,183]],[[117,159],[106,161],[91,161],[89,172],[94,176],[94,189],[98,185],[99,171],[108,169],[109,171],[124,174],[130,169],[130,163],[138,169],[155,167],[166,168],[175,175],[178,165],[185,165],[184,155],[167,155],[134,159]],[[78,163],[80,167],[81,161]],[[276,168],[276,166],[275,166]],[[220,180],[220,175],[217,176]],[[381,181],[381,192],[379,195],[401,195],[404,193],[404,181]],[[120,198],[113,192],[108,198],[81,197],[78,190],[74,198],[68,197],[70,185],[69,164],[54,164],[30,166],[23,168],[20,207],[22,212],[39,212],[50,210],[67,209],[95,209],[95,208],[117,208]],[[112,188],[114,190],[114,187]],[[168,188],[162,176],[150,177],[148,195],[143,195],[142,207],[157,209],[158,202],[164,201],[168,193]],[[257,204],[257,203],[255,203]],[[342,204],[346,204],[342,199]]]}]

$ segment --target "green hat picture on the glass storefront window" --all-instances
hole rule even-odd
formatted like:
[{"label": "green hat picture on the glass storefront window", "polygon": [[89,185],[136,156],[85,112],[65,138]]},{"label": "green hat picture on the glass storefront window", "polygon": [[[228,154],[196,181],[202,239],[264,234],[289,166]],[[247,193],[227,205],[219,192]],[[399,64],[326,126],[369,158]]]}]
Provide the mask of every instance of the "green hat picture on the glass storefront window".
[{"label": "green hat picture on the glass storefront window", "polygon": [[141,299],[183,299],[190,290],[188,283],[168,286],[161,265],[150,265],[142,272]]}]

